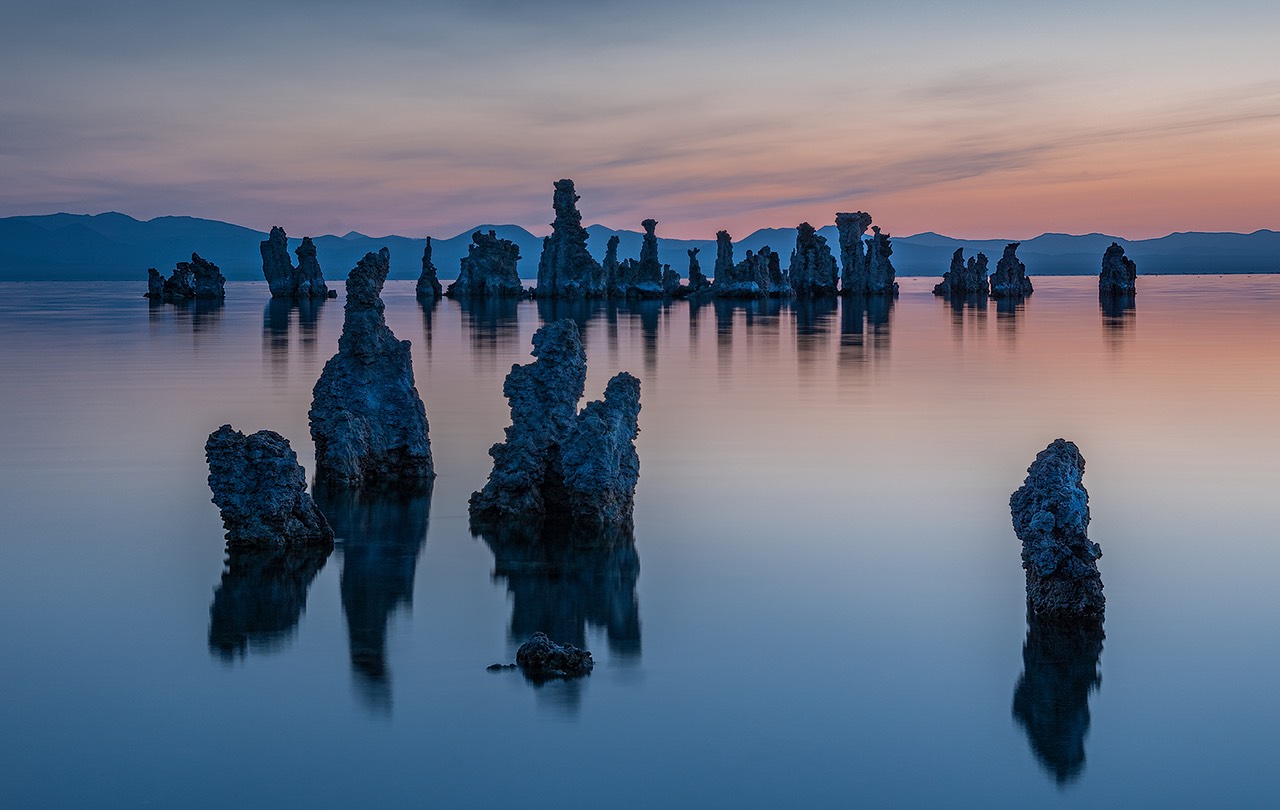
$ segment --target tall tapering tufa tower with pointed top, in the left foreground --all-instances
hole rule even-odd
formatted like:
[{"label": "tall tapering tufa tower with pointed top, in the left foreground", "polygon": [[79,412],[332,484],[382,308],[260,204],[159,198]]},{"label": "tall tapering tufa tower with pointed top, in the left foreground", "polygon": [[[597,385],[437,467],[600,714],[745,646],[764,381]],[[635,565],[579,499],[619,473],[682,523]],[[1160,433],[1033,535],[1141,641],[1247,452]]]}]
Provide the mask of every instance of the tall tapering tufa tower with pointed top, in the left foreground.
[{"label": "tall tapering tufa tower with pointed top, in the left foreground", "polygon": [[312,390],[316,481],[325,485],[396,486],[435,477],[410,344],[396,339],[383,315],[389,267],[383,248],[352,269],[338,353]]}]

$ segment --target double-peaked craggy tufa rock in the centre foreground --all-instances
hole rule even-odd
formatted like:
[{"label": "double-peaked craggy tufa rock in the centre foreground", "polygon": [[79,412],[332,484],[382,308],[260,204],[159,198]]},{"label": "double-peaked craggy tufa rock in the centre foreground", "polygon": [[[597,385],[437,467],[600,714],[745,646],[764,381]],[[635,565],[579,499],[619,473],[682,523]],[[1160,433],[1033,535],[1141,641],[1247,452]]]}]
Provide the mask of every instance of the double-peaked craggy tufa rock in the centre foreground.
[{"label": "double-peaked craggy tufa rock in the centre foreground", "polygon": [[507,440],[493,445],[493,472],[471,495],[477,525],[564,518],[599,526],[631,520],[640,461],[640,381],[622,372],[602,402],[576,412],[586,354],[571,320],[534,333],[534,362],[513,366],[503,384],[511,403]]}]

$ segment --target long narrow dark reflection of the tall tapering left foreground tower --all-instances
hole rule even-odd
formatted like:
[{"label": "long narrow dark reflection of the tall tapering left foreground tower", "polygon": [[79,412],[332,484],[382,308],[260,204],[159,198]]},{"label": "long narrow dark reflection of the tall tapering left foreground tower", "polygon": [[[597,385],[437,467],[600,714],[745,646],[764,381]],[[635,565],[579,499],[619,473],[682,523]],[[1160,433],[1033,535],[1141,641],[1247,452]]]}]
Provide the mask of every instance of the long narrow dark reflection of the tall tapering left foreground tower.
[{"label": "long narrow dark reflection of the tall tapering left foreground tower", "polygon": [[396,610],[413,603],[431,488],[383,493],[321,488],[315,499],[342,549],[342,610],[357,691],[370,709],[390,711],[387,626]]}]

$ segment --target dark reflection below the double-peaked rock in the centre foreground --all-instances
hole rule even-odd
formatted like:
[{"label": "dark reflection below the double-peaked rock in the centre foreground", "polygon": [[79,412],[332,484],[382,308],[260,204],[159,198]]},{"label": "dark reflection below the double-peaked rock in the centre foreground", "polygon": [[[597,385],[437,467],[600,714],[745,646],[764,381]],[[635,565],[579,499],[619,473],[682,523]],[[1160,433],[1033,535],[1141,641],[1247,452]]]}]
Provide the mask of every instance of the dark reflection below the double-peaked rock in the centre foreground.
[{"label": "dark reflection below the double-peaked rock in the centre foreground", "polygon": [[586,628],[599,627],[612,654],[640,655],[640,557],[630,528],[588,534],[507,523],[472,531],[493,552],[493,577],[504,580],[512,596],[512,650],[538,631],[558,644],[589,649]]}]

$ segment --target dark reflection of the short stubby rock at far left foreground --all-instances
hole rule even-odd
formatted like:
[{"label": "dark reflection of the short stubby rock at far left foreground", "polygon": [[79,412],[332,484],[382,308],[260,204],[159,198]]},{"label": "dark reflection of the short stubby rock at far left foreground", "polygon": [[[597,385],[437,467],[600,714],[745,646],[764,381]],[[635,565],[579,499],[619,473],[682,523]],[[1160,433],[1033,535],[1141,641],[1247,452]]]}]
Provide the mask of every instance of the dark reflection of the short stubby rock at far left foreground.
[{"label": "dark reflection of the short stubby rock at far left foreground", "polygon": [[209,651],[223,660],[278,650],[293,637],[329,549],[228,552],[209,608]]}]

